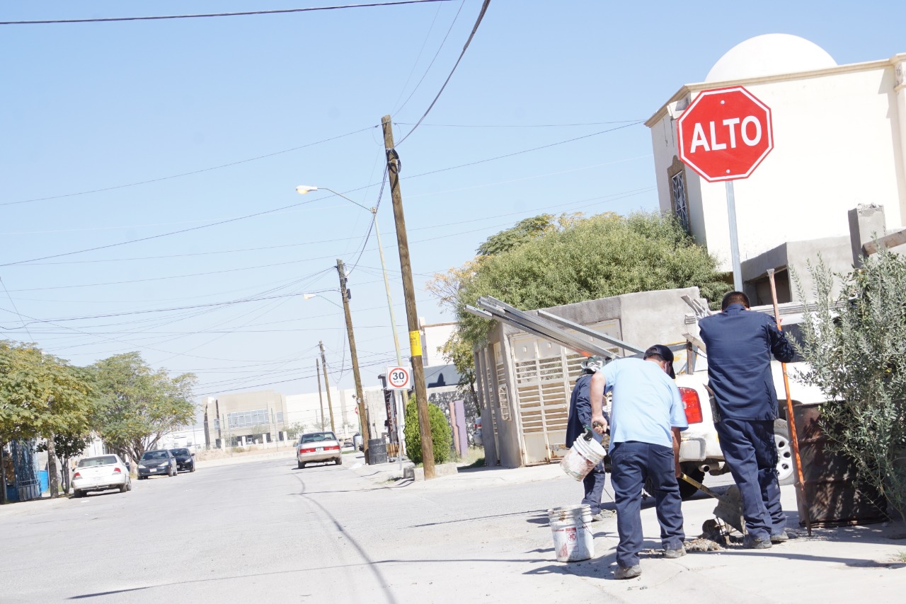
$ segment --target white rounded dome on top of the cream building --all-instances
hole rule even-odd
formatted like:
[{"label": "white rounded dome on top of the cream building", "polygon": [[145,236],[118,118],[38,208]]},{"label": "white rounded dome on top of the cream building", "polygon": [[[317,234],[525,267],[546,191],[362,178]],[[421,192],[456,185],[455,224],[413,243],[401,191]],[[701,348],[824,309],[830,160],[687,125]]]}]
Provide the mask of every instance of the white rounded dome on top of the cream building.
[{"label": "white rounded dome on top of the cream building", "polygon": [[731,48],[708,72],[705,81],[741,80],[778,73],[810,72],[835,67],[821,46],[790,34],[765,34]]}]

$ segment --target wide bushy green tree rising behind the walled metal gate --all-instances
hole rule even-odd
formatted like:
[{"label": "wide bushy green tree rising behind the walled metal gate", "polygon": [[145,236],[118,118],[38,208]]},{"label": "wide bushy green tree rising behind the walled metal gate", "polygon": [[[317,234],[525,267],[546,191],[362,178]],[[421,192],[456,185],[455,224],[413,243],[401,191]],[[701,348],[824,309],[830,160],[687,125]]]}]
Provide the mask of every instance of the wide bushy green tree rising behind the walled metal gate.
[{"label": "wide bushy green tree rising behind the walled metal gate", "polygon": [[[517,227],[517,233],[526,230]],[[467,351],[485,343],[492,327],[491,321],[465,311],[482,295],[536,309],[692,285],[708,300],[719,301],[729,289],[717,259],[695,244],[673,216],[572,216],[539,230],[534,236],[508,236],[506,241],[516,244],[489,246],[499,251],[435,275],[429,283],[440,304],[457,313],[458,342],[451,346],[460,349],[463,364],[471,364]]]}]

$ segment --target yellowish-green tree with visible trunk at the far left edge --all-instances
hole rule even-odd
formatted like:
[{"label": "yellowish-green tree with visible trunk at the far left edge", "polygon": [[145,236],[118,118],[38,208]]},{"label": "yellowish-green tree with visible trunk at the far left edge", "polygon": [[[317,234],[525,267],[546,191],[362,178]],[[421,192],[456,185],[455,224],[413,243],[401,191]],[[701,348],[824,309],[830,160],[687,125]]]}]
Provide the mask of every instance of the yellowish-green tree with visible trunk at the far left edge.
[{"label": "yellowish-green tree with visible trunk at the far left edge", "polygon": [[52,497],[60,494],[56,435],[90,432],[93,395],[91,376],[83,369],[34,344],[0,342],[0,446],[12,439],[43,437]]}]

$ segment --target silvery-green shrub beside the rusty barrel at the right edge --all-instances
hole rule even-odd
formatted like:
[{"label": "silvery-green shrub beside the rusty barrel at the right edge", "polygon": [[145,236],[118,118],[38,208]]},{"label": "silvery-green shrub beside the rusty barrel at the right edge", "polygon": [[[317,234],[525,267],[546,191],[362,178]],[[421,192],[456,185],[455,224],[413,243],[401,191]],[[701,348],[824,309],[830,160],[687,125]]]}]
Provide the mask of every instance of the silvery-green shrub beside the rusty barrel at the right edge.
[{"label": "silvery-green shrub beside the rusty barrel at the right edge", "polygon": [[805,379],[829,402],[821,423],[833,448],[848,457],[857,476],[906,515],[906,259],[886,250],[842,278],[819,259],[809,265],[814,292],[806,296],[801,351]]}]

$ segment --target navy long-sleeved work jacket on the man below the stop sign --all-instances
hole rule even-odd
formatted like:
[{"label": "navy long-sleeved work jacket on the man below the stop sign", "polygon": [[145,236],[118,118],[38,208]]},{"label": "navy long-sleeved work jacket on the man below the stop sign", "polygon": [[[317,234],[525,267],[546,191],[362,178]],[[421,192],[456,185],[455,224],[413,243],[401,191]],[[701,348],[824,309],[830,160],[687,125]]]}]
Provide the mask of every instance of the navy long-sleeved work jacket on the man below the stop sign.
[{"label": "navy long-sleeved work jacket on the man below the stop sign", "polygon": [[721,417],[776,419],[777,393],[771,355],[793,360],[794,350],[773,318],[747,311],[742,304],[699,321],[708,355],[708,385]]}]

